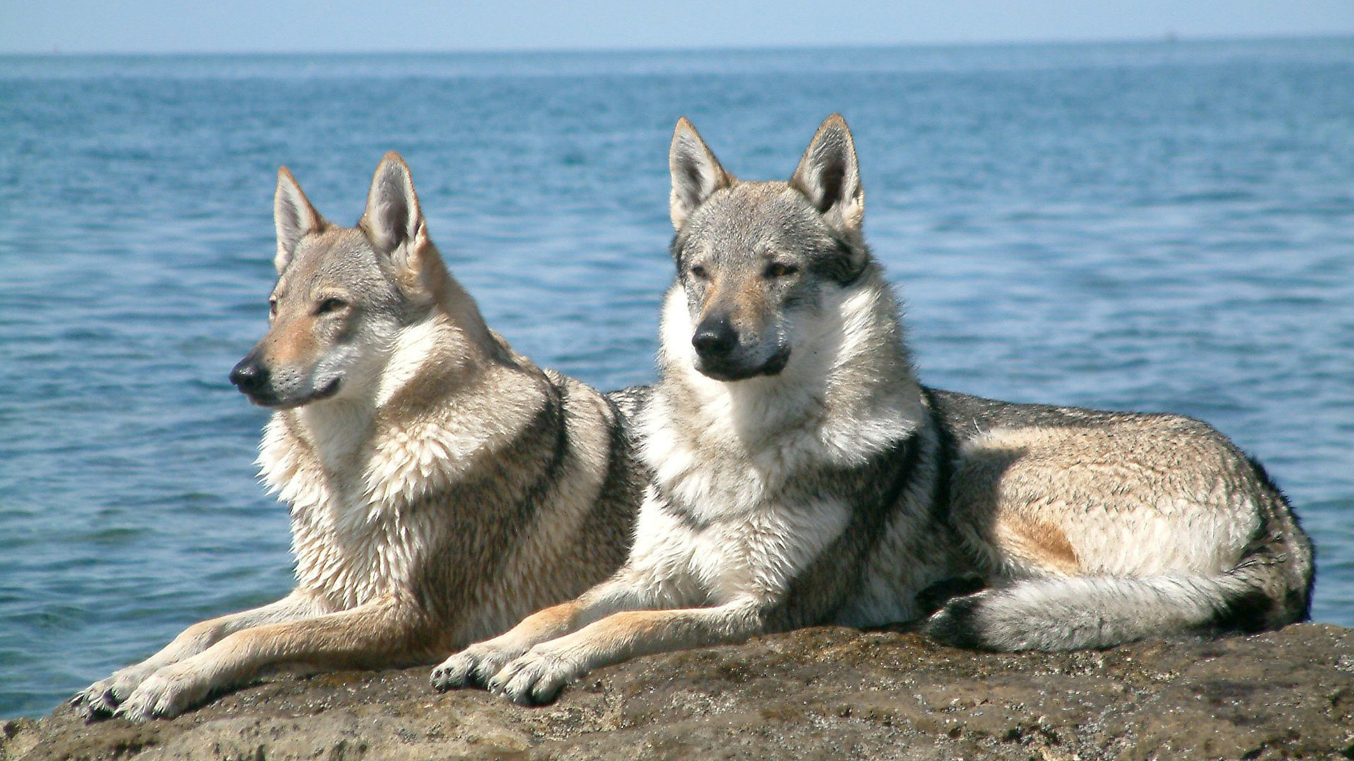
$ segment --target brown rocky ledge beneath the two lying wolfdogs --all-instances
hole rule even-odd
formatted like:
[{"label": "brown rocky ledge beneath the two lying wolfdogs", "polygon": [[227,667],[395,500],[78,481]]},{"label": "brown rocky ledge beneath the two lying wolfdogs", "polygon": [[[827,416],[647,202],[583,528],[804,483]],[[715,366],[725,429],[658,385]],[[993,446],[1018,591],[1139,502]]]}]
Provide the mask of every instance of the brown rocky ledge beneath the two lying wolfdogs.
[{"label": "brown rocky ledge beneath the two lying wolfdogs", "polygon": [[544,708],[427,668],[278,676],[171,722],[3,724],[0,760],[1354,758],[1354,630],[991,654],[823,627],[601,669]]}]

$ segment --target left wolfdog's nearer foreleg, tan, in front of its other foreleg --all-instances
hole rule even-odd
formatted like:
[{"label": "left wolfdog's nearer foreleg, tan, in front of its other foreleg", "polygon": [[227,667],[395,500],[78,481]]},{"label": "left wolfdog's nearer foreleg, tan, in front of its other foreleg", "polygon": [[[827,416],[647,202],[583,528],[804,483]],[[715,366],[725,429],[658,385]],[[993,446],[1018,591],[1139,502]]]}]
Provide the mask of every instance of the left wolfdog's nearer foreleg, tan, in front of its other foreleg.
[{"label": "left wolfdog's nearer foreleg, tan, in front of its other foreleg", "polygon": [[211,692],[283,664],[376,666],[417,657],[427,643],[422,613],[410,603],[385,600],[310,619],[237,631],[202,653],[156,670],[114,715],[169,718]]}]

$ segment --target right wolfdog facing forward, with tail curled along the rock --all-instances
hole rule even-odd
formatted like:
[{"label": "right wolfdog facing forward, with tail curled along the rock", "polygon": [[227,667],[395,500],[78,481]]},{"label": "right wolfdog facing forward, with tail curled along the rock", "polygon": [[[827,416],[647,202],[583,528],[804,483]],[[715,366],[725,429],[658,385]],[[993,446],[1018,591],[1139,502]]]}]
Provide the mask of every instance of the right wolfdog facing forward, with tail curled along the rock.
[{"label": "right wolfdog facing forward, with tail curled along the rock", "polygon": [[841,116],[788,183],[738,181],[685,119],[669,164],[677,279],[638,421],[654,479],[630,558],[452,655],[436,687],[542,703],[646,653],[936,608],[927,634],[991,650],[1305,617],[1307,536],[1208,425],[918,383]]}]

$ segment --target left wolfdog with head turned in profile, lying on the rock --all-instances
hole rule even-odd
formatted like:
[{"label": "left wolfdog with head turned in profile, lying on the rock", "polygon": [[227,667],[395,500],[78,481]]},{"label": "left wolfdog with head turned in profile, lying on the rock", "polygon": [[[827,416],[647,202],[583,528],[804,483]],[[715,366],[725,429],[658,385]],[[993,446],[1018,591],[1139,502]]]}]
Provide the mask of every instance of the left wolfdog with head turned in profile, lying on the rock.
[{"label": "left wolfdog with head turned in profile, lying on the rock", "polygon": [[432,664],[607,578],[647,481],[604,397],[539,370],[447,272],[409,168],[356,229],[283,168],[267,334],[230,379],[275,412],[263,478],[291,506],[297,588],[188,627],[73,700],[173,716],[261,670]]}]

